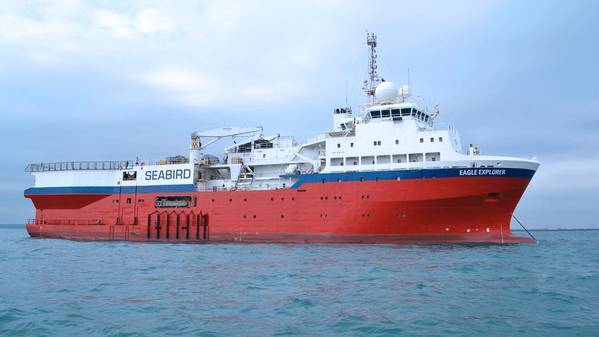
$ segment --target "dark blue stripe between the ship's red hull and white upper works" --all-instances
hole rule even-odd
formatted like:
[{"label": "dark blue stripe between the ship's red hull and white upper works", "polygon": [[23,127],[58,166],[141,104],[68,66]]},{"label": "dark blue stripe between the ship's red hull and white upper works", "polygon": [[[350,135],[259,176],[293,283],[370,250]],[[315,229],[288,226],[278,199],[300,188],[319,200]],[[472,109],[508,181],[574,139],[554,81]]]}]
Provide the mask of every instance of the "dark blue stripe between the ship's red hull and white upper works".
[{"label": "dark blue stripe between the ship's red hull and white upper works", "polygon": [[[297,189],[306,183],[332,183],[347,181],[376,181],[403,179],[431,179],[431,178],[478,178],[478,177],[508,177],[531,179],[534,170],[517,168],[476,168],[476,169],[420,169],[396,171],[370,171],[370,172],[343,172],[343,173],[310,173],[288,174],[281,178],[297,179],[291,186]],[[32,187],[25,190],[26,195],[35,194],[132,194],[132,193],[160,193],[160,192],[194,192],[193,184],[187,185],[157,185],[157,186],[81,186],[81,187]]]}]

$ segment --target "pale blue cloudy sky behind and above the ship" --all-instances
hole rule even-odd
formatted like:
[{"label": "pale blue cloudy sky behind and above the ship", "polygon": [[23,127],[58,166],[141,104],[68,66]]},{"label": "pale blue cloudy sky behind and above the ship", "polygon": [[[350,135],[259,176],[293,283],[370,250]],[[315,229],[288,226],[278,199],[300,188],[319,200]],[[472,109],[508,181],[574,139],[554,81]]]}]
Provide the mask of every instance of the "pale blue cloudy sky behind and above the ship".
[{"label": "pale blue cloudy sky behind and above the ship", "polygon": [[[516,214],[599,227],[599,2],[0,1],[0,223],[30,162],[186,154],[262,125],[302,141],[379,70],[483,153],[537,157]],[[218,148],[215,149],[219,151]]]}]

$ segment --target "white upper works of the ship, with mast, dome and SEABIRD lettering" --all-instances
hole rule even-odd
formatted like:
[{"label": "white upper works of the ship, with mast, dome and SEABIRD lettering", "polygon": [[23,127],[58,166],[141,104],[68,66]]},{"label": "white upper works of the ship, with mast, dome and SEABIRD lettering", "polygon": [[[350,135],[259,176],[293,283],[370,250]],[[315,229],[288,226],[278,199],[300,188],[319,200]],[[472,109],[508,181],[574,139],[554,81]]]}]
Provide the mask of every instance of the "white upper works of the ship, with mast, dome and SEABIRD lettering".
[{"label": "white upper works of the ship, with mast, dome and SEABIRD lettering", "polygon": [[[428,111],[412,102],[407,85],[398,87],[379,78],[374,35],[368,36],[368,46],[370,72],[364,90],[370,102],[357,114],[351,107],[334,109],[331,130],[303,144],[292,137],[265,135],[260,127],[225,127],[194,132],[188,158],[171,157],[154,163],[42,163],[32,164],[28,170],[36,176],[35,187],[168,184],[198,191],[288,188],[299,174],[314,173],[434,168],[536,170],[535,160],[480,155],[478,147],[463,148],[456,129],[435,128],[439,111]],[[229,137],[236,141],[224,149],[224,156],[204,153],[207,146]]]}]

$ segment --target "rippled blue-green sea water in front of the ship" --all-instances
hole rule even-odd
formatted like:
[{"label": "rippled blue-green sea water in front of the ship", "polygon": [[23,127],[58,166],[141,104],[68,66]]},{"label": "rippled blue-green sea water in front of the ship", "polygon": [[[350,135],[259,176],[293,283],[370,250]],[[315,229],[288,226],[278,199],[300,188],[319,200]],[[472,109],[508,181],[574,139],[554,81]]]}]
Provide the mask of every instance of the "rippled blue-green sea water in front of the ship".
[{"label": "rippled blue-green sea water in front of the ship", "polygon": [[538,245],[175,245],[0,228],[0,335],[599,335],[599,231],[535,234]]}]

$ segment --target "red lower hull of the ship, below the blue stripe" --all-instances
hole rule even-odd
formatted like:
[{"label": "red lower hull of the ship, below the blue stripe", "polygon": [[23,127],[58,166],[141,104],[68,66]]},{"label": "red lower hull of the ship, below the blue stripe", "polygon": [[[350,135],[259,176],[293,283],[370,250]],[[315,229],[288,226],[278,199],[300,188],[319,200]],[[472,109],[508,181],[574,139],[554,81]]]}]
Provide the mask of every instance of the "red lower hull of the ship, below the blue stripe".
[{"label": "red lower hull of the ship, below the blue stripe", "polygon": [[[534,172],[533,172],[534,174]],[[28,193],[32,237],[155,242],[529,243],[510,231],[528,177],[305,182],[267,191]],[[159,196],[189,208],[156,208]]]}]

